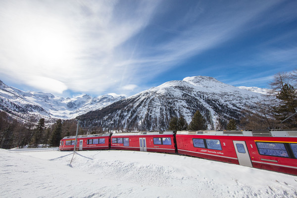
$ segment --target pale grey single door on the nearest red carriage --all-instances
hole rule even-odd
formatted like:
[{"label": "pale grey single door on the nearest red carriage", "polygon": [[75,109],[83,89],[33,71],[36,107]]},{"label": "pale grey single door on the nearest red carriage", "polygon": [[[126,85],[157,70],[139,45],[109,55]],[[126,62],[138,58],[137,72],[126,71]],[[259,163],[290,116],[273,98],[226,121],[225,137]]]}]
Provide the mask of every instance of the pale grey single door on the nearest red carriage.
[{"label": "pale grey single door on the nearest red carriage", "polygon": [[233,141],[240,165],[252,167],[245,141]]}]

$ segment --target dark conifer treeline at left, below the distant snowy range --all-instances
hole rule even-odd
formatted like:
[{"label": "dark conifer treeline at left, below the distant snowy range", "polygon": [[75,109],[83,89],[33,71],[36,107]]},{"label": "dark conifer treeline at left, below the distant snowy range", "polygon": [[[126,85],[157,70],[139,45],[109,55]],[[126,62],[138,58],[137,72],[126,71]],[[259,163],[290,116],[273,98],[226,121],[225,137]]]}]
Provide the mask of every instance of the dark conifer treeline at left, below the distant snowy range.
[{"label": "dark conifer treeline at left, below the distant snowy range", "polygon": [[[34,122],[22,123],[0,111],[0,148],[30,148],[39,146],[59,146],[60,140],[65,136],[75,136],[77,130],[76,120],[58,119],[54,124],[46,124],[41,118],[37,124]],[[81,128],[79,135],[98,133],[99,128]]]}]

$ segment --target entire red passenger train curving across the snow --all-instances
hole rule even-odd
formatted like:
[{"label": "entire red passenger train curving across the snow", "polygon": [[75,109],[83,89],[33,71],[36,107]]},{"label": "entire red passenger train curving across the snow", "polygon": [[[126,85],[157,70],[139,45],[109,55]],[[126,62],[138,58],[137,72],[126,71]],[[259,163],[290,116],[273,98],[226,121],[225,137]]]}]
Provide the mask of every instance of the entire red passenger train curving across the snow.
[{"label": "entire red passenger train curving across the snow", "polygon": [[[59,150],[73,150],[75,137]],[[297,131],[165,131],[83,135],[78,150],[120,149],[179,153],[297,175]]]}]

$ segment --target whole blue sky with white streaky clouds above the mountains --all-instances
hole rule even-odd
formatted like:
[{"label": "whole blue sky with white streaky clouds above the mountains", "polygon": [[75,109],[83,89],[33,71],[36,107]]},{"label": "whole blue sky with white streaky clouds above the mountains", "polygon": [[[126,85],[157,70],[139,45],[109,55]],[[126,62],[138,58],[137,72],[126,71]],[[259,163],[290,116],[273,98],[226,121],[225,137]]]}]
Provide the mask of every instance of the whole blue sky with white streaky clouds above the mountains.
[{"label": "whole blue sky with white streaky clouds above the mountains", "polygon": [[131,96],[211,76],[266,88],[297,68],[296,0],[1,0],[0,80]]}]

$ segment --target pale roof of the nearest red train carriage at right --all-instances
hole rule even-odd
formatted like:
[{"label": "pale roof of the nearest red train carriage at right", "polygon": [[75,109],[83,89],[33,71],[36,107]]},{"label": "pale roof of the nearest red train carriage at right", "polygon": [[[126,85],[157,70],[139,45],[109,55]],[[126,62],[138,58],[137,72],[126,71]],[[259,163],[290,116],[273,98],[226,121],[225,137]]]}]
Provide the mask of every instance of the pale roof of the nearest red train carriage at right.
[{"label": "pale roof of the nearest red train carriage at right", "polygon": [[180,135],[249,136],[249,137],[297,137],[297,130],[253,131],[177,131]]}]

